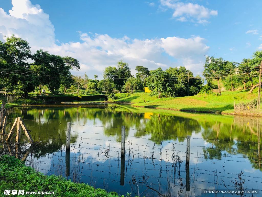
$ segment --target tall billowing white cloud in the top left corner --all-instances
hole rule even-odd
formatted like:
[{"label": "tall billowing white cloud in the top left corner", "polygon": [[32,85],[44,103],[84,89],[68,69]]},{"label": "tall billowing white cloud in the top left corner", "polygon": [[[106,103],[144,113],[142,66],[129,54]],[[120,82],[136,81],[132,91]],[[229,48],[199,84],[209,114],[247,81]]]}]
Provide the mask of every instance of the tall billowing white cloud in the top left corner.
[{"label": "tall billowing white cloud in the top left corner", "polygon": [[[12,4],[9,14],[0,8],[1,35],[15,34],[38,46],[55,42],[54,26],[39,5],[32,5],[29,0],[12,0]],[[1,36],[0,39],[5,38]]]}]

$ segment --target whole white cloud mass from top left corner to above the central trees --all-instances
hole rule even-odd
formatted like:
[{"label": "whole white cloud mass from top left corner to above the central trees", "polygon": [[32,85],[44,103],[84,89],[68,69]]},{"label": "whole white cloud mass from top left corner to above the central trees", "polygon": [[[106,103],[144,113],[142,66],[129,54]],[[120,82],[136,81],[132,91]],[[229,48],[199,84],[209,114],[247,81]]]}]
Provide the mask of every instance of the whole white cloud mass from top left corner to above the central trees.
[{"label": "whole white cloud mass from top left corner to above the central trees", "polygon": [[81,66],[80,71],[73,71],[77,75],[86,72],[90,77],[99,74],[101,78],[105,67],[114,66],[121,59],[129,63],[133,74],[136,65],[150,70],[184,65],[198,74],[203,70],[202,61],[209,50],[205,39],[195,36],[140,40],[79,32],[80,42],[59,43],[49,15],[39,5],[32,5],[29,0],[13,0],[12,4],[9,14],[0,8],[0,39],[14,33],[29,42],[32,52],[42,48],[53,54],[76,58]]}]

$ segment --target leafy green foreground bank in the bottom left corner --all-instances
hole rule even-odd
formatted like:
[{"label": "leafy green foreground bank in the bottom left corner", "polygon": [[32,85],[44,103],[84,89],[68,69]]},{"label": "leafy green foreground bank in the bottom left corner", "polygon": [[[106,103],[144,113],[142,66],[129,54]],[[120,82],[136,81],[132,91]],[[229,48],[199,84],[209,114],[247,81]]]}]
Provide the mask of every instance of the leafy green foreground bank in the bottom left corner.
[{"label": "leafy green foreground bank in the bottom left corner", "polygon": [[[94,188],[85,183],[74,183],[58,176],[46,176],[26,167],[24,162],[4,155],[0,157],[0,196],[4,190],[26,191],[53,191],[48,196],[92,196],[92,197],[119,197],[116,192],[107,192],[104,189]],[[12,195],[13,196],[13,195]],[[26,194],[21,196],[39,196],[39,194]],[[124,197],[122,195],[122,197]]]}]

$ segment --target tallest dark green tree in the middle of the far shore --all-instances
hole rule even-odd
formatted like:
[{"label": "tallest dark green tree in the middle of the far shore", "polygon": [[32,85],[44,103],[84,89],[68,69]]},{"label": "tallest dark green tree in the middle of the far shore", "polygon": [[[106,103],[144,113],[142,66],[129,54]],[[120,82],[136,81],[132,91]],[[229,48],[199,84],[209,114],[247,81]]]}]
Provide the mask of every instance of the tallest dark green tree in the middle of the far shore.
[{"label": "tallest dark green tree in the middle of the far shore", "polygon": [[118,91],[122,90],[125,81],[131,76],[129,65],[123,60],[117,62],[117,67],[109,66],[104,70],[104,79],[112,80]]}]

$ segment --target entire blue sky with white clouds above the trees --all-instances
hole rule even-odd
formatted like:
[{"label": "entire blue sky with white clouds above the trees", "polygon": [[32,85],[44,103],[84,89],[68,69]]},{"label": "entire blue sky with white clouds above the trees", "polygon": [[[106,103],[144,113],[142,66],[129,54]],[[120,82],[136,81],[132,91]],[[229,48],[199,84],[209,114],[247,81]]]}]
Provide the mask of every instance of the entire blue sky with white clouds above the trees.
[{"label": "entire blue sky with white clouds above the trees", "polygon": [[0,39],[14,33],[33,52],[73,56],[82,65],[77,74],[91,78],[101,78],[120,59],[133,73],[135,65],[184,65],[200,74],[205,55],[239,62],[262,49],[261,6],[262,1],[5,0]]}]

